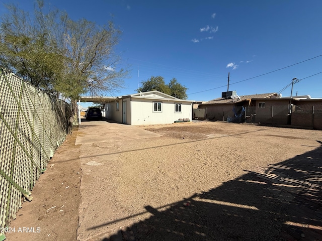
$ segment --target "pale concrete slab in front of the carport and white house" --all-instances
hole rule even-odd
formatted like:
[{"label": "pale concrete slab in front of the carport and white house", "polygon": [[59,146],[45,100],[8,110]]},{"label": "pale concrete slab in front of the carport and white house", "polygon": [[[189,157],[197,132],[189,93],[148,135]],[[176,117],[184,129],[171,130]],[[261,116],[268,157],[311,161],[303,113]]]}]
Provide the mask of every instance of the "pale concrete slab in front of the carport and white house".
[{"label": "pale concrete slab in front of the carport and white house", "polygon": [[75,145],[151,137],[160,137],[160,135],[135,126],[109,123],[106,121],[91,121],[82,122],[82,125],[79,126]]}]

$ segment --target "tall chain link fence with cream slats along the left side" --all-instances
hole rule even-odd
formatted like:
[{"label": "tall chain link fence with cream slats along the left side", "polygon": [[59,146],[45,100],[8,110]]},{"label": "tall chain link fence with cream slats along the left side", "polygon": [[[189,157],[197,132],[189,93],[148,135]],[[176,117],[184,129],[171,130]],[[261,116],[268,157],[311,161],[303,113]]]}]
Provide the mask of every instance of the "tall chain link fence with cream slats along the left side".
[{"label": "tall chain link fence with cream slats along the left side", "polygon": [[[0,227],[16,218],[64,141],[70,104],[0,69]],[[0,233],[1,237],[1,233]]]}]

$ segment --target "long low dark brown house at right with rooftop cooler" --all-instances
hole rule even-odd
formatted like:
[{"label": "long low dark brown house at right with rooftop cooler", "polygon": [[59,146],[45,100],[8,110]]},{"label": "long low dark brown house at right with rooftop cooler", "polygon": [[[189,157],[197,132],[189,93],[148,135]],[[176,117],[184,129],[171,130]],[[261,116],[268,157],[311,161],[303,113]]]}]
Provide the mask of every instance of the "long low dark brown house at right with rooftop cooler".
[{"label": "long low dark brown house at right with rooftop cooler", "polygon": [[207,119],[322,130],[322,99],[311,99],[309,95],[283,98],[277,93],[223,96],[199,104],[198,108],[205,110]]}]

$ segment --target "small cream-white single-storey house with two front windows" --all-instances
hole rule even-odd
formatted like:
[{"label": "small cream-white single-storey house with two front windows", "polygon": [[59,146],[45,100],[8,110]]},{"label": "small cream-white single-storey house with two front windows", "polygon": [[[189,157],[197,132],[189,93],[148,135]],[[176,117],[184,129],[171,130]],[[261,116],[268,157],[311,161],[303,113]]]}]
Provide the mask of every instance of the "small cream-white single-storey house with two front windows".
[{"label": "small cream-white single-storey house with two front windows", "polygon": [[178,99],[153,90],[110,98],[106,117],[128,125],[170,124],[192,120],[193,100]]}]

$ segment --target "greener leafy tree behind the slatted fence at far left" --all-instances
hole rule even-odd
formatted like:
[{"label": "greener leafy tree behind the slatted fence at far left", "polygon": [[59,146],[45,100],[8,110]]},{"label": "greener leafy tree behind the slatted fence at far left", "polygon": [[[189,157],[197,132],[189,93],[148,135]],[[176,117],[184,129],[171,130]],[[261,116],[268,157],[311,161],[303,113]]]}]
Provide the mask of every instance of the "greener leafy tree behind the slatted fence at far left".
[{"label": "greener leafy tree behind the slatted fence at far left", "polygon": [[50,35],[57,12],[42,13],[42,2],[38,7],[32,19],[17,6],[7,6],[9,13],[2,16],[0,25],[0,66],[52,92],[61,76],[65,57]]}]

